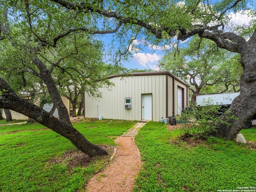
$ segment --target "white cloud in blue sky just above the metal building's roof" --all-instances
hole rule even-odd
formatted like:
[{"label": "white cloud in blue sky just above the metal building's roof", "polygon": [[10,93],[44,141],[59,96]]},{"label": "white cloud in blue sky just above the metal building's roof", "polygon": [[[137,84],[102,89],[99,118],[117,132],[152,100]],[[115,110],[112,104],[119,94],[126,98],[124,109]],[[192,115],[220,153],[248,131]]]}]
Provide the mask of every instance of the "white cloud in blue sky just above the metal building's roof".
[{"label": "white cloud in blue sky just above the metal building's roof", "polygon": [[140,65],[146,67],[149,63],[155,63],[158,62],[161,59],[161,56],[157,55],[156,53],[150,54],[150,53],[135,53],[133,54],[134,60],[136,60]]}]

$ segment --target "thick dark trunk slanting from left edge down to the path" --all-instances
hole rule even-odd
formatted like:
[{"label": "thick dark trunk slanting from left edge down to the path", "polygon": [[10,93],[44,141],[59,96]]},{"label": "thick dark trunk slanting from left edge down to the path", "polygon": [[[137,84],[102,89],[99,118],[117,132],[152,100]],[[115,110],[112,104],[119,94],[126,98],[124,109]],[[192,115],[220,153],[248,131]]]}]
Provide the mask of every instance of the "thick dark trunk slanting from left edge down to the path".
[{"label": "thick dark trunk slanting from left edge down to the path", "polygon": [[58,120],[40,107],[19,98],[2,78],[0,78],[0,108],[11,109],[35,119],[38,123],[70,140],[79,150],[90,156],[108,154],[99,146],[86,140],[72,125]]}]

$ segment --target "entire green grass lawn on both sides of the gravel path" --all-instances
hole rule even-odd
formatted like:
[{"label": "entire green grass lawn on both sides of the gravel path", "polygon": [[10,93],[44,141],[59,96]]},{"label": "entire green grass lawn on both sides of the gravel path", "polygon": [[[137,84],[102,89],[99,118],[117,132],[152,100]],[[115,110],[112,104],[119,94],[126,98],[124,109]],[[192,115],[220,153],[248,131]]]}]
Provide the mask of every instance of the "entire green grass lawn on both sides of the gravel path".
[{"label": "entire green grass lawn on both sides of the gravel path", "polygon": [[[74,123],[98,145],[115,145],[114,139],[135,121],[102,120]],[[256,141],[256,128],[242,130]],[[136,136],[144,162],[134,192],[237,190],[256,186],[256,151],[244,144],[209,138],[201,144],[181,141],[179,130],[148,122]],[[68,161],[49,163],[74,150],[69,140],[40,124],[0,126],[0,191],[76,192],[108,158],[96,158],[86,168],[70,168]]]}]

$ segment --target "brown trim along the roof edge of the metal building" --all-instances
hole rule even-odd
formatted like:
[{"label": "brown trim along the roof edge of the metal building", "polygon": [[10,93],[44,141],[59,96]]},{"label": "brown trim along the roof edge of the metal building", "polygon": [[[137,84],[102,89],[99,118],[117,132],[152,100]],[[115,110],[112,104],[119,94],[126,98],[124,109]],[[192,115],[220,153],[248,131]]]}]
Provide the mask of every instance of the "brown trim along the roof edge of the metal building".
[{"label": "brown trim along the roof edge of the metal building", "polygon": [[156,71],[156,72],[138,72],[138,73],[129,73],[129,74],[115,74],[115,75],[111,75],[108,76],[107,78],[114,78],[114,77],[119,77],[119,76],[144,76],[144,75],[170,75],[172,76],[174,79],[178,80],[179,82],[185,84],[186,86],[190,87],[190,85],[188,85],[187,83],[185,83],[184,81],[182,81],[180,78],[178,78],[176,75],[172,74],[169,71]]}]

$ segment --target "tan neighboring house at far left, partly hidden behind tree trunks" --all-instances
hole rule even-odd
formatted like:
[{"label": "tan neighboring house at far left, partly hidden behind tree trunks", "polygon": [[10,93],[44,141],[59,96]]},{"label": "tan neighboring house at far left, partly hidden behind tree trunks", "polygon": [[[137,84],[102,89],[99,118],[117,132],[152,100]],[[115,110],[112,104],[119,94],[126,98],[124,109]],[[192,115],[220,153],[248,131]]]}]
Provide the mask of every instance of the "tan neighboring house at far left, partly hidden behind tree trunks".
[{"label": "tan neighboring house at far left, partly hidden behind tree trunks", "polygon": [[[68,100],[68,98],[66,97],[61,97],[62,98],[62,101],[64,102],[64,105],[66,106],[68,112],[70,111],[70,101]],[[28,98],[30,99],[30,98]],[[46,110],[47,112],[49,112],[51,109],[52,109],[52,104],[44,104],[44,110]],[[28,116],[25,116],[23,114],[20,114],[18,112],[15,112],[13,110],[10,110],[11,114],[12,114],[12,119],[23,119],[23,120],[26,120],[28,119]],[[58,114],[58,110],[56,109],[54,111],[54,114],[53,114],[54,117],[56,118],[59,118],[59,114]],[[6,115],[4,113],[4,110],[3,110],[3,118],[6,118]]]}]

